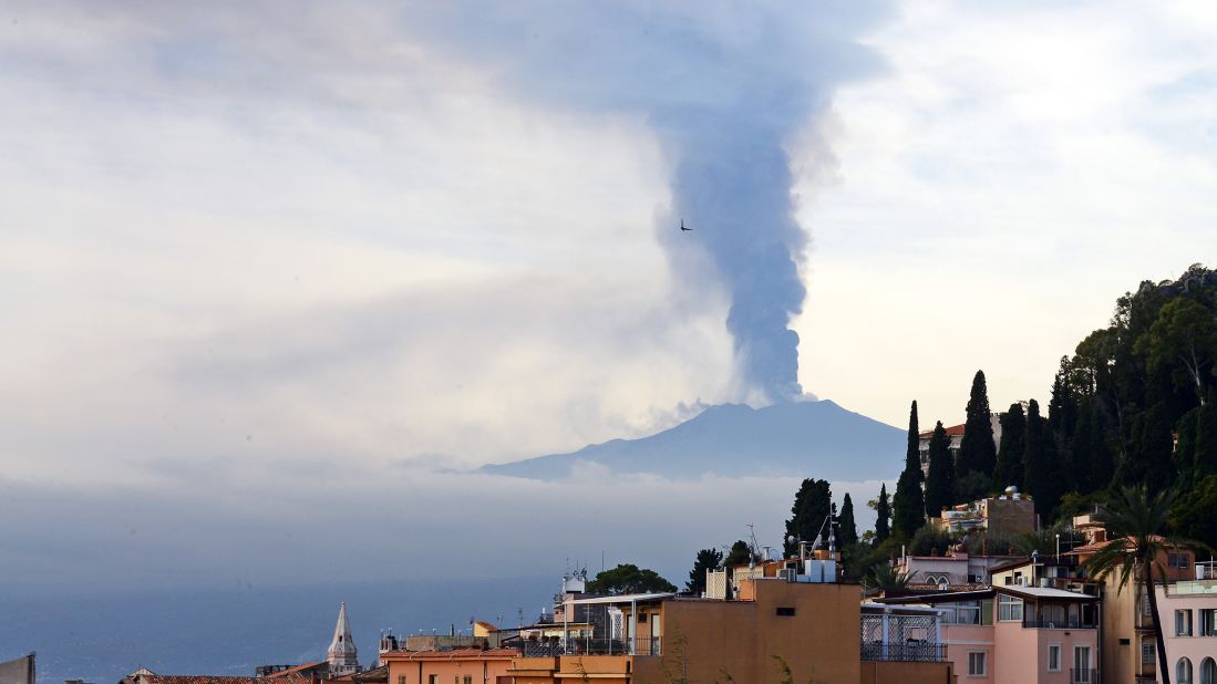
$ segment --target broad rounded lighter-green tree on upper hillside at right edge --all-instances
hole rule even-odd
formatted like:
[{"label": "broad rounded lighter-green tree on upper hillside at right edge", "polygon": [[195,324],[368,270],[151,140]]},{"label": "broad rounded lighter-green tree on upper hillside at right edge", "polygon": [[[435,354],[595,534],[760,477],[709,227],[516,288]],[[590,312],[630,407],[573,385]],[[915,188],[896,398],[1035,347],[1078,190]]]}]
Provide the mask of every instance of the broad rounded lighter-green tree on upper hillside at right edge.
[{"label": "broad rounded lighter-green tree on upper hillside at right edge", "polygon": [[1204,404],[1217,358],[1217,316],[1195,299],[1177,297],[1162,307],[1149,335],[1138,340],[1134,349],[1145,355],[1150,370],[1180,370],[1177,377],[1184,385],[1190,382]]}]

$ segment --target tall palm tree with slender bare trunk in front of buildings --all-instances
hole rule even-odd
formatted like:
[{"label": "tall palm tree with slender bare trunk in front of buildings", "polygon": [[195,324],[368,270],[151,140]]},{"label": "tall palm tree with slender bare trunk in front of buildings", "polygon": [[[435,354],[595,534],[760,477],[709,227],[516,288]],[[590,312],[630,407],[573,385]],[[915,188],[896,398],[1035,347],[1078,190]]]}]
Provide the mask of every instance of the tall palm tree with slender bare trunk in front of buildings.
[{"label": "tall palm tree with slender bare trunk in front of buildings", "polygon": [[1162,588],[1166,588],[1166,571],[1159,556],[1167,549],[1195,545],[1182,539],[1163,537],[1167,515],[1176,492],[1163,490],[1150,494],[1142,484],[1115,490],[1098,520],[1107,529],[1107,544],[1086,560],[1087,573],[1095,579],[1116,578],[1116,592],[1123,592],[1128,581],[1142,585],[1149,598],[1154,615],[1154,641],[1157,644],[1157,665],[1162,683],[1171,684],[1171,668],[1166,661],[1166,643],[1162,624],[1157,617],[1157,595],[1154,593],[1154,571],[1157,568]]}]

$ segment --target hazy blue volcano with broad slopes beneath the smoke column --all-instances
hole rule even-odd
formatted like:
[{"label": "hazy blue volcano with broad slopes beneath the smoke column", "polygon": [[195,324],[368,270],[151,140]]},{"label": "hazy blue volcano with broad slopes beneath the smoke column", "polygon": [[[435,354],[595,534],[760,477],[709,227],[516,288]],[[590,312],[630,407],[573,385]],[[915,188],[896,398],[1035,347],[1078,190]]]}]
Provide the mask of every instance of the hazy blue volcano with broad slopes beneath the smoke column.
[{"label": "hazy blue volcano with broad slopes beneath the smoke column", "polygon": [[570,454],[551,454],[484,472],[561,480],[581,462],[617,473],[673,478],[797,476],[832,481],[893,477],[904,459],[904,431],[839,407],[831,400],[789,402],[753,409],[710,407],[650,437],[612,439]]}]

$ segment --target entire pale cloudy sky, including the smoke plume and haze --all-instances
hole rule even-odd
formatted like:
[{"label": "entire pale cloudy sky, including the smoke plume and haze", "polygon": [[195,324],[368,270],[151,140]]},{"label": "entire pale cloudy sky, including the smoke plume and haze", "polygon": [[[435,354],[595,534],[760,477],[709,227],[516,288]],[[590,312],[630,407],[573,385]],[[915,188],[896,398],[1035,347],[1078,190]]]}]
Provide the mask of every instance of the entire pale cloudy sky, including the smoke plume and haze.
[{"label": "entire pale cloudy sky, including the smoke plume and haze", "polygon": [[[723,402],[950,425],[977,369],[1045,399],[1116,297],[1212,265],[1215,37],[1201,1],[7,4],[0,574],[262,581],[217,568],[538,503],[582,517],[511,572],[773,529],[796,482],[623,482],[655,508],[596,544],[596,473],[459,471]],[[736,489],[679,559],[626,529]]]}]

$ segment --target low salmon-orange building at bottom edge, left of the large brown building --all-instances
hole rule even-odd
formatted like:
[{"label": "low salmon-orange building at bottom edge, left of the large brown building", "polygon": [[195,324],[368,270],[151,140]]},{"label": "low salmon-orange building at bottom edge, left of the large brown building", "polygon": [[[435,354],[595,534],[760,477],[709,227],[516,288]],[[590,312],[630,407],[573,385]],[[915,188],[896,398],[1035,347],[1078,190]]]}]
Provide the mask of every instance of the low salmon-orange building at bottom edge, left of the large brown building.
[{"label": "low salmon-orange building at bottom edge, left of the large brown building", "polygon": [[387,651],[388,684],[512,684],[515,649]]}]

